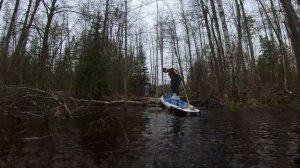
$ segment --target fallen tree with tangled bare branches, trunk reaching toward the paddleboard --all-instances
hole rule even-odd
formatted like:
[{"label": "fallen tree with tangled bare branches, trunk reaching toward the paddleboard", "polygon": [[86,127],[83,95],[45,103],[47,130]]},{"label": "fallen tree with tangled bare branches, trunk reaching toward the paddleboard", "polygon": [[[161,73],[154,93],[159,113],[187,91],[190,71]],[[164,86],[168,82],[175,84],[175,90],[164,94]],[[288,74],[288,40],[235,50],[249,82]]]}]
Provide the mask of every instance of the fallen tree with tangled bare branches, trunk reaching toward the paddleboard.
[{"label": "fallen tree with tangled bare branches, trunk reaching toward the paddleboard", "polygon": [[[41,90],[29,87],[0,85],[0,114],[13,117],[18,121],[31,118],[61,117],[70,119],[74,112],[94,105],[122,105],[124,100],[86,100],[76,99],[70,95],[51,90]],[[140,98],[128,100],[128,105],[146,106],[156,104],[157,99]]]}]

